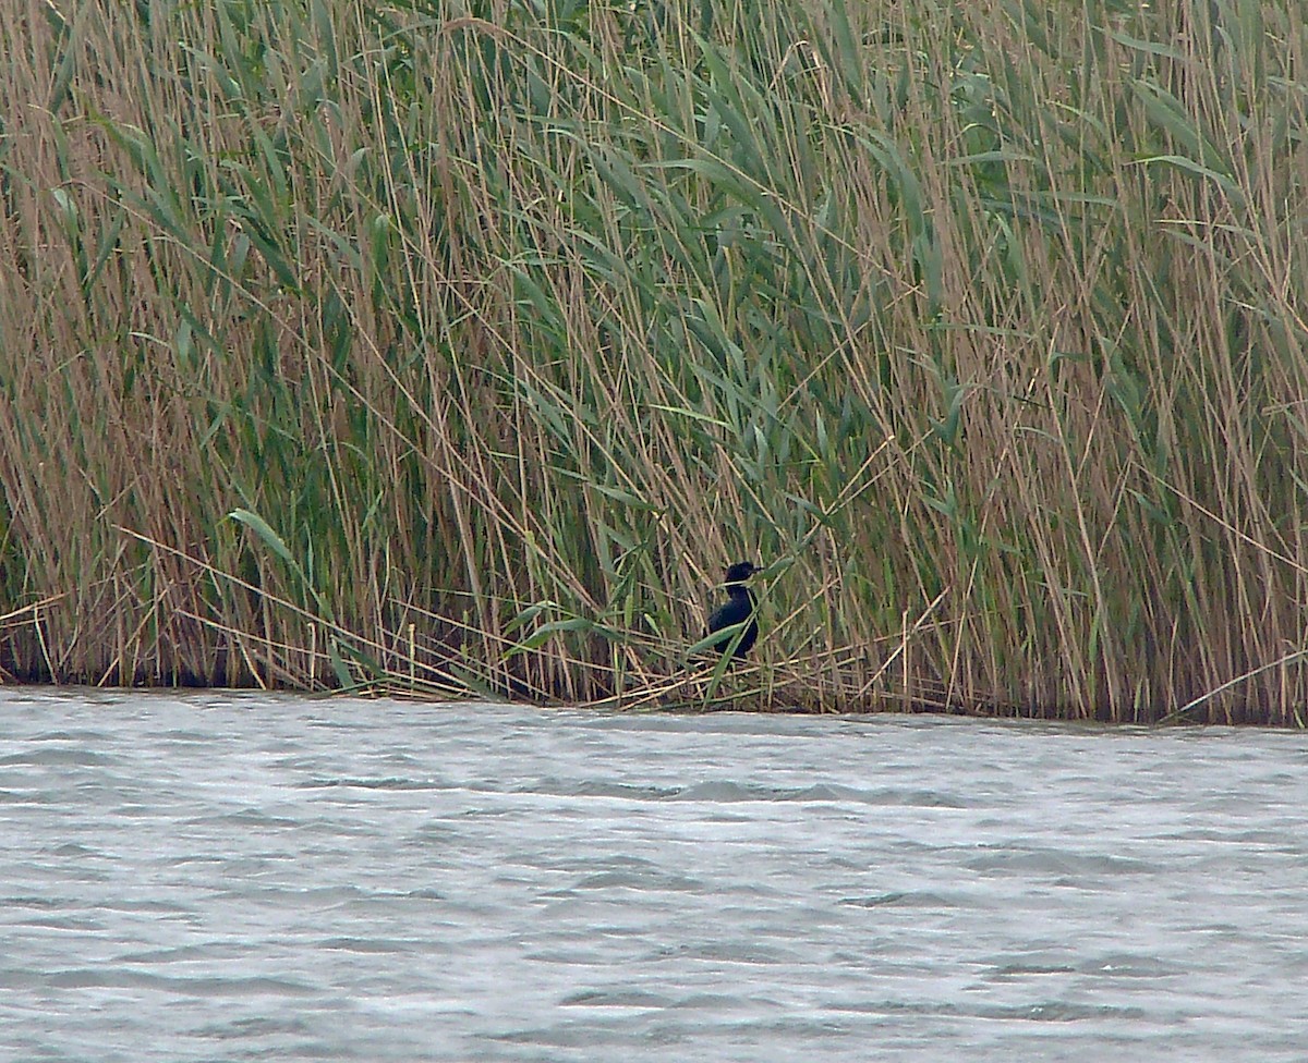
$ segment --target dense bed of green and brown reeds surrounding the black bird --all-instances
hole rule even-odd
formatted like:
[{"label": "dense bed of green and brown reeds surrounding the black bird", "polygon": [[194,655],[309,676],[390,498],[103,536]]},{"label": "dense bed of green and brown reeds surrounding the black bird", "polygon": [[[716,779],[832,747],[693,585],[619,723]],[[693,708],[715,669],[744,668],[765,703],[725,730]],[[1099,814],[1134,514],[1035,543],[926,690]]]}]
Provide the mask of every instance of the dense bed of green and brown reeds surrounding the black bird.
[{"label": "dense bed of green and brown reeds surrounding the black bird", "polygon": [[1300,5],[0,42],[0,679],[1303,724]]}]

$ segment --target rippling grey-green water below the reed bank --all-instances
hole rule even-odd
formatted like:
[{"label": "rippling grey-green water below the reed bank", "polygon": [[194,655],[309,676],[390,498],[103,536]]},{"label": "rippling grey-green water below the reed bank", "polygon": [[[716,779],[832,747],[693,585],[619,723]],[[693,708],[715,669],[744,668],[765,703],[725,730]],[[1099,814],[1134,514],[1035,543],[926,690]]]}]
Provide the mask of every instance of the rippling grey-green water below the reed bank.
[{"label": "rippling grey-green water below the reed bank", "polygon": [[1308,743],[0,689],[0,1059],[1301,1060]]}]

